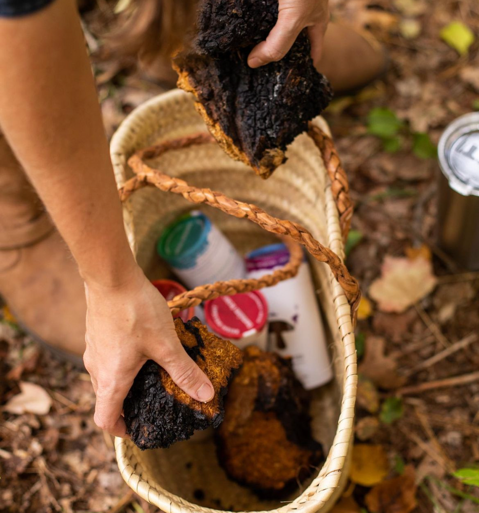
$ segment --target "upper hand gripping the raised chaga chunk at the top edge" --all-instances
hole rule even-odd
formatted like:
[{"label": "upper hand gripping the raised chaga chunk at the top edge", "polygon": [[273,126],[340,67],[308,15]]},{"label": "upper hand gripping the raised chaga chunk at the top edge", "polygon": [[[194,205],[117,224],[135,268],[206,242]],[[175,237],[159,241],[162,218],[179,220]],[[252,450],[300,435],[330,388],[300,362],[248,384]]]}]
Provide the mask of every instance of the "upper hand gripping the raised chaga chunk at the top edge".
[{"label": "upper hand gripping the raised chaga chunk at the top edge", "polygon": [[308,27],[313,61],[319,61],[328,22],[328,0],[279,0],[278,21],[266,41],[256,45],[248,55],[248,65],[258,68],[280,61],[304,27]]}]

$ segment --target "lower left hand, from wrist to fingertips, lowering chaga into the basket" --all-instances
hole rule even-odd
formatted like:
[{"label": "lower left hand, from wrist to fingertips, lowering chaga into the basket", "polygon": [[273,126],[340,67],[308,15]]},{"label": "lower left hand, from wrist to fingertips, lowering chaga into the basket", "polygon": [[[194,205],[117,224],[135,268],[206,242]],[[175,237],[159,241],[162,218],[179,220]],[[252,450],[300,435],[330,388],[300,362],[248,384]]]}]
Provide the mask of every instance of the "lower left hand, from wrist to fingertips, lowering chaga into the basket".
[{"label": "lower left hand, from wrist to fingertips, lowering chaga into the basket", "polygon": [[86,350],[83,357],[97,395],[95,423],[125,437],[123,400],[146,360],[155,360],[198,401],[213,399],[208,378],[181,345],[165,299],[139,267],[127,283],[105,289],[86,284]]}]

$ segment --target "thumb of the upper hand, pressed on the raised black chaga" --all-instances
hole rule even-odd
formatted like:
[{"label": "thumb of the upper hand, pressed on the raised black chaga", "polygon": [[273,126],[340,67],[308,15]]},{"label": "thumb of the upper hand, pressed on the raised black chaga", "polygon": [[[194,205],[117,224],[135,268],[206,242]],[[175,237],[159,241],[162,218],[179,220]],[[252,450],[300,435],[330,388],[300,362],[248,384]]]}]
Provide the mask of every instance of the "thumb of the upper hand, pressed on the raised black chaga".
[{"label": "thumb of the upper hand, pressed on the raised black chaga", "polygon": [[257,44],[248,55],[248,65],[259,68],[273,61],[280,61],[290,51],[302,28],[300,18],[293,11],[279,11],[278,21],[266,41]]}]

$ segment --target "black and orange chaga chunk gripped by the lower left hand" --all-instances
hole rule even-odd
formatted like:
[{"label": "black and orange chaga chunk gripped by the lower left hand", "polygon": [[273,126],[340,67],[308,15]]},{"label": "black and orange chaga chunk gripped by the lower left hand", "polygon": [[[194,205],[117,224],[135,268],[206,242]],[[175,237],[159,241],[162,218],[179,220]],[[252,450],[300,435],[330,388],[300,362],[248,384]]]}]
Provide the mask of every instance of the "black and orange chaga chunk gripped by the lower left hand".
[{"label": "black and orange chaga chunk gripped by the lower left hand", "polygon": [[198,318],[186,323],[177,318],[175,327],[186,352],[212,382],[215,397],[208,403],[191,399],[162,367],[148,360],[123,404],[127,432],[142,450],[169,447],[187,440],[196,429],[218,427],[224,417],[223,396],[241,365],[240,349],[210,333]]}]

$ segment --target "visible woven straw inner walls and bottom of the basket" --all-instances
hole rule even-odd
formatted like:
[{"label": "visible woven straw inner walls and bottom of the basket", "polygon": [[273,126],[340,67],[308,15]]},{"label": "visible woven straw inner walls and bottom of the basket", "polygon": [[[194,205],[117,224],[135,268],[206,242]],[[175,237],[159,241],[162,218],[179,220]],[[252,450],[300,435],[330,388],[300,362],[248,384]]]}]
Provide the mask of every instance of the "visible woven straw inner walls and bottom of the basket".
[{"label": "visible woven straw inner walls and bottom of the basket", "polygon": [[[167,120],[158,112],[151,123],[148,130],[138,130],[127,140],[124,149],[126,159],[133,151],[150,144],[205,130],[189,101],[179,103],[174,115],[170,113]],[[319,242],[328,245],[324,194],[328,179],[319,153],[310,139],[301,135],[289,149],[288,157],[288,162],[266,181],[243,164],[231,161],[216,144],[171,151],[158,161],[148,163],[171,176],[181,177],[191,185],[220,190],[279,218],[299,222]],[[120,185],[132,175],[127,166],[122,169],[119,174],[119,166],[116,167]],[[138,263],[150,279],[175,279],[158,257],[156,242],[169,222],[192,208],[204,211],[243,254],[277,241],[275,235],[250,221],[233,218],[211,207],[193,206],[182,196],[152,187],[135,192],[125,208],[130,243],[135,249]],[[313,434],[323,444],[327,454],[340,414],[344,354],[334,311],[329,268],[313,259],[311,267],[335,367],[335,379],[312,393]],[[318,473],[321,475],[321,469],[314,471],[309,482],[298,483],[290,498],[286,497],[283,501],[263,500],[226,477],[217,461],[214,433],[211,431],[199,432],[191,440],[177,443],[169,449],[142,452],[131,442],[127,443],[135,471],[150,486],[175,501],[184,500],[218,510],[261,511],[279,508],[294,500],[318,477]]]}]

